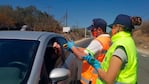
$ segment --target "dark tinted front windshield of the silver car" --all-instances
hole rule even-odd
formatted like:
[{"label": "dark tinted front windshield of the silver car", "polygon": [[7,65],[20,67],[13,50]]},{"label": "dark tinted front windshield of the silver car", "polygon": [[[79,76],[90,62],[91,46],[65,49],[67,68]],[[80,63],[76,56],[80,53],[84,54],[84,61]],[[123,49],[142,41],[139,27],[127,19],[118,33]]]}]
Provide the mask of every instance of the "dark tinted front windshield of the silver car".
[{"label": "dark tinted front windshield of the silver car", "polygon": [[0,84],[20,84],[30,73],[39,41],[0,39]]}]

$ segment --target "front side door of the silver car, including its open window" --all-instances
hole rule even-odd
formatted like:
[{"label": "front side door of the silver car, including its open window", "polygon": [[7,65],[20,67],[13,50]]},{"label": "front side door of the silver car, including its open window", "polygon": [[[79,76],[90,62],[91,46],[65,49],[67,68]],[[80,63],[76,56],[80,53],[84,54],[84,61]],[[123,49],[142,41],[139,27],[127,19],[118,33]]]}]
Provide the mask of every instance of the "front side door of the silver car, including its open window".
[{"label": "front side door of the silver car, including its open window", "polygon": [[[53,43],[57,42],[61,47],[61,54],[55,53]],[[69,69],[71,75],[68,79],[60,81],[60,84],[79,84],[78,80],[78,60],[71,51],[66,50],[63,45],[67,43],[67,40],[62,37],[52,38],[47,45],[44,62],[41,71],[40,84],[51,83],[49,79],[49,74],[54,68],[66,68]]]}]

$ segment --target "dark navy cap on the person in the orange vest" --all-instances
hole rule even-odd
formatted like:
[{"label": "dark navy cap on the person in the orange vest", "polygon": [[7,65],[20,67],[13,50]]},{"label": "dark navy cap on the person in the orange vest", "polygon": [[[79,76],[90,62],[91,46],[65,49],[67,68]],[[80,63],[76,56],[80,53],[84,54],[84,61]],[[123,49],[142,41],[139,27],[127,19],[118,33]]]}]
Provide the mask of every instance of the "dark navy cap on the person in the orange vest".
[{"label": "dark navy cap on the person in the orange vest", "polygon": [[87,29],[91,30],[92,28],[100,27],[104,32],[106,32],[106,26],[107,26],[107,23],[105,20],[103,20],[101,18],[95,18],[95,19],[93,19],[93,25],[87,27]]}]

